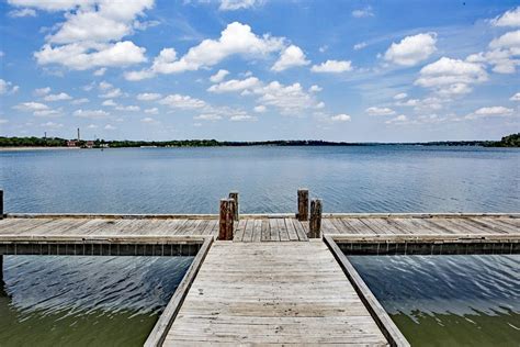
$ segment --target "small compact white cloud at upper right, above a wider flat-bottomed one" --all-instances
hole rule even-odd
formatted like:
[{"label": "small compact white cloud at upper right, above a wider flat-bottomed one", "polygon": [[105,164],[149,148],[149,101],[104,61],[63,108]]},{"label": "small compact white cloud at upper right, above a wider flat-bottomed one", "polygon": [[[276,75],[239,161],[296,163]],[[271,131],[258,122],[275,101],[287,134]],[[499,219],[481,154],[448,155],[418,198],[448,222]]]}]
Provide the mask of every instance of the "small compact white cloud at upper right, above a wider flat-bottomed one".
[{"label": "small compact white cloud at upper right, above a wider flat-bottomed one", "polygon": [[397,65],[414,66],[427,59],[437,51],[436,43],[437,33],[407,36],[399,43],[392,43],[384,58]]}]

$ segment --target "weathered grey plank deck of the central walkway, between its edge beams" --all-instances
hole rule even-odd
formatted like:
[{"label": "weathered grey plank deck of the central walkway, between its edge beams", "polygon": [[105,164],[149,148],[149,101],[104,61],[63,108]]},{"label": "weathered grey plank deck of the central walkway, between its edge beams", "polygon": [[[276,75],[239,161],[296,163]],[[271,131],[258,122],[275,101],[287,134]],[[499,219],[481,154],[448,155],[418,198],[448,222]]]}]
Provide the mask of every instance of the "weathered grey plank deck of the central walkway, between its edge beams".
[{"label": "weathered grey plank deck of the central walkway, between its edge beams", "polygon": [[320,239],[215,242],[165,340],[387,345]]}]

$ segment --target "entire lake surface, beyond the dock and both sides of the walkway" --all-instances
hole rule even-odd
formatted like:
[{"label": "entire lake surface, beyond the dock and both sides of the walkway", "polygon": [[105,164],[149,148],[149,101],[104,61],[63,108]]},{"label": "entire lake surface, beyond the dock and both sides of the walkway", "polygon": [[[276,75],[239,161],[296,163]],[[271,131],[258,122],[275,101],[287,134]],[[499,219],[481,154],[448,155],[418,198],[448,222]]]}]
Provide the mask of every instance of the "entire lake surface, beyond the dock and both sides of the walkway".
[{"label": "entire lake surface, beyond the dock and both sides of the walkway", "polygon": [[[230,190],[240,192],[241,212],[295,212],[302,187],[326,212],[518,212],[519,182],[520,150],[508,148],[0,152],[7,212],[216,213]],[[0,345],[138,345],[190,261],[7,257]],[[414,343],[520,340],[518,257],[354,262]]]}]

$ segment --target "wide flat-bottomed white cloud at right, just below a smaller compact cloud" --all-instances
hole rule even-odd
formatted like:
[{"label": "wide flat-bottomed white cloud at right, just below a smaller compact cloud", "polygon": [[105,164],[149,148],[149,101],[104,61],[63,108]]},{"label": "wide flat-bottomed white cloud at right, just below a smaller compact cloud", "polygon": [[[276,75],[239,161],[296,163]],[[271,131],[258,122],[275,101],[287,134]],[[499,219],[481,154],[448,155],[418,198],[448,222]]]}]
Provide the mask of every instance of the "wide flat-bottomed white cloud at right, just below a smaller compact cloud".
[{"label": "wide flat-bottomed white cloud at right, just below a smaller compact cloud", "polygon": [[419,76],[415,85],[433,89],[443,96],[468,93],[471,85],[488,79],[481,64],[446,57],[421,68]]}]

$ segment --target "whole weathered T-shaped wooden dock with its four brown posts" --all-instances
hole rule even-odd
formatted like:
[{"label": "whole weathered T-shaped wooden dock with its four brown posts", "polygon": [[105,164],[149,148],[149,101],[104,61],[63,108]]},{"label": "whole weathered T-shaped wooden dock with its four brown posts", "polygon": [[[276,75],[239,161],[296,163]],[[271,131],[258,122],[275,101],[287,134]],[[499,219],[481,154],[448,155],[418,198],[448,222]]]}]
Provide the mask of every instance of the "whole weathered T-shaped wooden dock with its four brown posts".
[{"label": "whole weathered T-shaped wooden dock with its four brown posts", "polygon": [[520,214],[308,206],[299,191],[295,214],[239,215],[237,193],[218,215],[0,211],[0,256],[194,256],[146,346],[408,346],[346,255],[520,254]]}]

